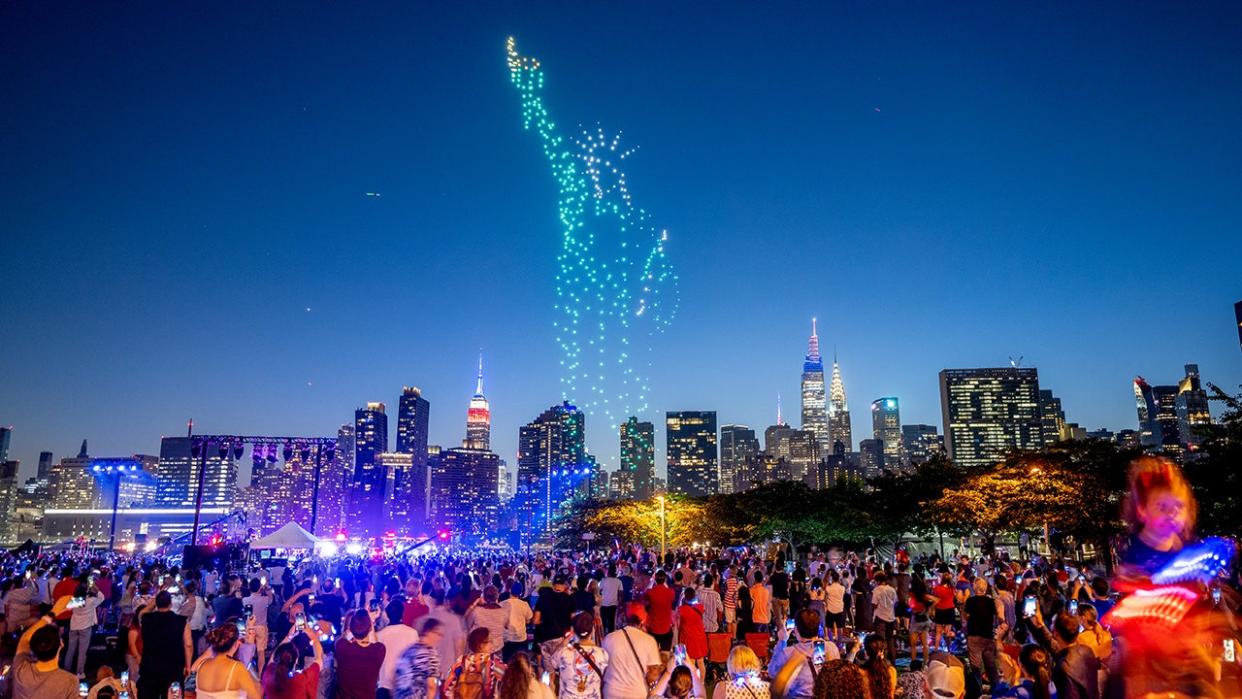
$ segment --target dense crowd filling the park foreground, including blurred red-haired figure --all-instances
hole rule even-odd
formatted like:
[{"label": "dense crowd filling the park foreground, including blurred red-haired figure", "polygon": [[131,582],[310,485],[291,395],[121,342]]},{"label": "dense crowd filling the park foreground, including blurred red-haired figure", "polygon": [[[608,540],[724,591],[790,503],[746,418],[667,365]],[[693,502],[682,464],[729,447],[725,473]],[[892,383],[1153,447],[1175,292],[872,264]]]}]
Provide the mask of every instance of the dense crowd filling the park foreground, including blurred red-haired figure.
[{"label": "dense crowd filling the park foreground, including blurred red-haired figure", "polygon": [[1210,621],[1180,643],[1107,623],[1194,545],[1180,471],[1140,459],[1126,516],[1112,576],[1005,551],[776,545],[225,566],[14,554],[4,683],[17,699],[1227,695],[1236,577],[1181,582]]}]

